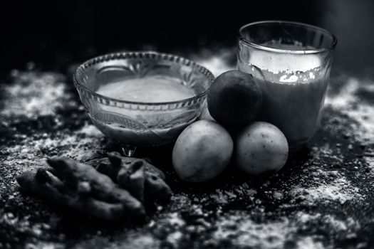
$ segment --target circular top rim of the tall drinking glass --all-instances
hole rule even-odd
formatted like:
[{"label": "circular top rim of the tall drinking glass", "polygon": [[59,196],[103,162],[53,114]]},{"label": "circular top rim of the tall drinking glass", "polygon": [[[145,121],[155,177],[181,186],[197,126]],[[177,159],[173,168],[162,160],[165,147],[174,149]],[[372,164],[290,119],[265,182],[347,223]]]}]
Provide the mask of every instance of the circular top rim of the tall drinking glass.
[{"label": "circular top rim of the tall drinking glass", "polygon": [[[316,31],[322,32],[326,36],[330,36],[332,38],[332,42],[330,44],[328,44],[327,46],[324,46],[322,48],[296,50],[295,51],[295,50],[286,50],[286,49],[269,48],[269,47],[266,47],[266,46],[261,46],[259,44],[248,41],[246,38],[244,38],[244,36],[242,36],[242,33],[244,33],[245,28],[248,28],[250,26],[256,26],[256,25],[259,25],[259,24],[266,24],[266,23],[286,24],[286,25],[289,25],[289,26],[299,26],[299,27],[304,27],[304,28],[311,28],[311,29],[314,29]],[[313,26],[313,25],[306,24],[306,23],[299,23],[299,22],[296,22],[296,21],[273,21],[273,20],[270,20],[270,21],[256,21],[254,23],[248,23],[244,26],[241,26],[241,28],[239,28],[239,39],[240,39],[240,41],[243,41],[244,43],[246,43],[249,46],[253,46],[254,48],[259,48],[259,49],[264,50],[264,51],[271,51],[271,52],[276,52],[276,53],[294,53],[294,54],[311,54],[311,53],[321,53],[321,52],[324,52],[324,51],[330,51],[331,49],[335,48],[336,43],[337,43],[336,36],[334,36],[333,33],[330,33],[328,31],[326,31],[326,29],[320,28],[318,26]]]}]

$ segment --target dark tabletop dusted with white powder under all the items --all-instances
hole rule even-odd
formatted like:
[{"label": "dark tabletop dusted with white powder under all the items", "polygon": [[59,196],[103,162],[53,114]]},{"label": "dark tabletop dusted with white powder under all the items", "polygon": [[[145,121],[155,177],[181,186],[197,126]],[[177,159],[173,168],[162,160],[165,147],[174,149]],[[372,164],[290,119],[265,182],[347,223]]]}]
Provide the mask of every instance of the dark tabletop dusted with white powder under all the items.
[{"label": "dark tabletop dusted with white powder under all the items", "polygon": [[[225,56],[197,60],[217,76],[233,68]],[[374,77],[334,75],[323,128],[278,174],[229,167],[184,184],[172,146],[140,149],[167,174],[172,201],[144,223],[105,224],[20,191],[15,176],[47,157],[86,161],[119,147],[92,125],[70,75],[14,70],[0,85],[0,248],[373,248]]]}]

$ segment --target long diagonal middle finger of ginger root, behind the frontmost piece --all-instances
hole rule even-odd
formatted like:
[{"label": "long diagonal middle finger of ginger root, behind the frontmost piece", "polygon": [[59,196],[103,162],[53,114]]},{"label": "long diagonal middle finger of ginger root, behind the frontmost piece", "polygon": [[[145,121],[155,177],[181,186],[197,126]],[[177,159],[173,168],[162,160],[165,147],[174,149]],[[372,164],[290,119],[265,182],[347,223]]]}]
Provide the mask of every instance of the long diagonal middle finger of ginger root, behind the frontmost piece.
[{"label": "long diagonal middle finger of ginger root, behind the frontmost piece", "polygon": [[68,158],[51,158],[48,164],[56,170],[63,184],[108,203],[122,203],[123,211],[135,216],[144,216],[142,203],[125,189],[120,189],[108,176],[100,174],[92,166]]}]

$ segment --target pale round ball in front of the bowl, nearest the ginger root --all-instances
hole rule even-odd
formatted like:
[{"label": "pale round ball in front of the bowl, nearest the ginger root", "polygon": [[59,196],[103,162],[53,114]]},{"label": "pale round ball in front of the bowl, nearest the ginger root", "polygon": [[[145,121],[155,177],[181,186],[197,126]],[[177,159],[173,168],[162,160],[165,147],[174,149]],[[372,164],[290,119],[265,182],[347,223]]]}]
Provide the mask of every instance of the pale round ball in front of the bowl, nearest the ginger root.
[{"label": "pale round ball in front of the bowl, nearest the ginger root", "polygon": [[184,181],[203,182],[221,173],[232,157],[234,144],[217,122],[199,120],[177,138],[172,164]]}]

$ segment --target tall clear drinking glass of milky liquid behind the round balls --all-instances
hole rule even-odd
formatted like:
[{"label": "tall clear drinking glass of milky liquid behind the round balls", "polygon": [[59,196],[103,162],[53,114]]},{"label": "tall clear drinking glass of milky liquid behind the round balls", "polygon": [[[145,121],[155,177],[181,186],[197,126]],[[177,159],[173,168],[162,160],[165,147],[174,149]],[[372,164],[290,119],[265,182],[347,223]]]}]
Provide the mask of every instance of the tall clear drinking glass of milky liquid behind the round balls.
[{"label": "tall clear drinking glass of milky liquid behind the round balls", "polygon": [[257,120],[286,135],[291,150],[316,132],[333,62],[336,37],[303,23],[260,21],[239,30],[237,67],[259,83]]}]

